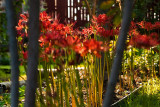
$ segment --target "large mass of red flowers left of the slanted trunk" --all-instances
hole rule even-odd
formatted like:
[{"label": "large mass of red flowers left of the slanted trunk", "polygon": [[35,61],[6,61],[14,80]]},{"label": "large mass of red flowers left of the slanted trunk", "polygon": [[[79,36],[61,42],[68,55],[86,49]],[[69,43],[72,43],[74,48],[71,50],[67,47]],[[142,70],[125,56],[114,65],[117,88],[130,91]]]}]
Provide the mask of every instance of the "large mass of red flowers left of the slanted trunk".
[{"label": "large mass of red flowers left of the slanted trunk", "polygon": [[[21,43],[21,49],[24,49],[23,41],[27,36],[28,30],[28,14],[21,14],[21,19],[19,20],[18,26],[16,27],[18,34],[20,35],[21,39],[19,42]],[[84,28],[82,31],[74,30],[73,24],[71,25],[64,25],[59,23],[58,20],[52,19],[47,13],[41,12],[40,13],[40,38],[39,44],[41,47],[40,57],[44,60],[52,58],[55,60],[56,58],[65,55],[64,51],[70,52],[74,50],[81,56],[85,56],[87,53],[93,53],[97,57],[100,57],[100,51],[103,51],[102,42],[96,41],[95,39],[88,40],[88,38],[84,39],[84,36],[94,34],[93,26],[89,28]],[[97,23],[104,24],[107,22],[107,16],[100,15],[97,18]],[[108,35],[113,35],[113,31],[105,32],[103,35],[104,37]],[[101,33],[103,33],[101,32]],[[109,33],[109,34],[108,34]],[[82,37],[82,38],[80,38]],[[26,48],[27,46],[25,46]],[[25,49],[26,50],[26,49]],[[27,51],[23,53],[23,58],[27,58]]]}]

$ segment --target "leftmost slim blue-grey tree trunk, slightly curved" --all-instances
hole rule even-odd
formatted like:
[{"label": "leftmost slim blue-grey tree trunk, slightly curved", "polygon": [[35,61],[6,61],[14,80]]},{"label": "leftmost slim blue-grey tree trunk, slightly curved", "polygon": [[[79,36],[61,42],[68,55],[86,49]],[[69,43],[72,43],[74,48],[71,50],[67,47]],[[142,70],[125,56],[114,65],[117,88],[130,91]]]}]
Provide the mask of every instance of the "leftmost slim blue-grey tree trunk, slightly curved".
[{"label": "leftmost slim blue-grey tree trunk, slightly curved", "polygon": [[16,40],[16,12],[13,0],[6,0],[7,29],[9,35],[9,50],[11,55],[11,106],[18,107],[19,97],[19,62]]}]

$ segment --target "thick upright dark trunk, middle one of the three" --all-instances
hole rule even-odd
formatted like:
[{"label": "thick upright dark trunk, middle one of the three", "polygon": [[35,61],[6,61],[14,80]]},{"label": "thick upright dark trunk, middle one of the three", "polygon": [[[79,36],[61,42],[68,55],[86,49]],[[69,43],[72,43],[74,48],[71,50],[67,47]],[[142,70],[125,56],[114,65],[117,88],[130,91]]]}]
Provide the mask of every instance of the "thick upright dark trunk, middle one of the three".
[{"label": "thick upright dark trunk, middle one of the three", "polygon": [[25,107],[35,106],[38,73],[39,0],[29,0],[29,43]]}]

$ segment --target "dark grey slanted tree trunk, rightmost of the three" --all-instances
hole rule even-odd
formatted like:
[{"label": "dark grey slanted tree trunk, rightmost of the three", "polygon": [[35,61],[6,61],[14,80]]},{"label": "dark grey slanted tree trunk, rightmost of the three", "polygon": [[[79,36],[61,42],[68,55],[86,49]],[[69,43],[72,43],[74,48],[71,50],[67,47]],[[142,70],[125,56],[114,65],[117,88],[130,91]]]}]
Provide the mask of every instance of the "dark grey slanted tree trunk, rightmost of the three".
[{"label": "dark grey slanted tree trunk, rightmost of the three", "polygon": [[122,63],[123,51],[127,39],[127,32],[129,30],[131,13],[132,13],[133,0],[125,0],[123,8],[123,18],[120,35],[117,41],[116,54],[112,65],[111,75],[107,86],[107,92],[103,102],[103,107],[110,107],[114,95],[116,82],[119,76],[119,70]]}]

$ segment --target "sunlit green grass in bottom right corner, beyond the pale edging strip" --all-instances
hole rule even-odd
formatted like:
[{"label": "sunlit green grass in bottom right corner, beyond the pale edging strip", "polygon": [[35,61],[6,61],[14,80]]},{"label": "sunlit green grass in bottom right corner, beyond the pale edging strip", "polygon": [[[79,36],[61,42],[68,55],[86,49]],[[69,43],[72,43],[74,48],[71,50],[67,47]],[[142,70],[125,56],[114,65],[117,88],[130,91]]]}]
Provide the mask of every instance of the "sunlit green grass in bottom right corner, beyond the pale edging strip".
[{"label": "sunlit green grass in bottom right corner, beyond the pale edging strip", "polygon": [[118,107],[160,107],[160,79],[150,79],[138,93],[119,103]]}]

